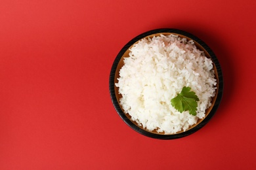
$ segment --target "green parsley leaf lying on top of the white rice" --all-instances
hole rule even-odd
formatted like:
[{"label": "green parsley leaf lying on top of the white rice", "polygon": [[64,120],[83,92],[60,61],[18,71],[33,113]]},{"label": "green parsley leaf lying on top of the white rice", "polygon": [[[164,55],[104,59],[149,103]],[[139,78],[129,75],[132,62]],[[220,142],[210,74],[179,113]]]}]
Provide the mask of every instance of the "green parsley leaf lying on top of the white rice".
[{"label": "green parsley leaf lying on top of the white rice", "polygon": [[195,92],[190,92],[191,88],[184,86],[181,93],[178,93],[176,97],[171,99],[171,105],[179,112],[187,111],[189,114],[196,116],[196,110],[198,107],[198,96]]}]

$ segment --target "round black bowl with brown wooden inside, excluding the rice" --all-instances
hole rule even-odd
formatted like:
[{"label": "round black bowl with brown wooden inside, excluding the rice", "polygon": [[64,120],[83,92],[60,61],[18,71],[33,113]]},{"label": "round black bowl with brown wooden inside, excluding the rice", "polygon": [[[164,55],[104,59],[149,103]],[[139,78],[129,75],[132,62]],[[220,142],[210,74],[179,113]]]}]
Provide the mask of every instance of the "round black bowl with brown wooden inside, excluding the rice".
[{"label": "round black bowl with brown wooden inside, excluding the rice", "polygon": [[[203,51],[207,58],[210,58],[213,61],[213,69],[215,71],[215,78],[217,80],[216,93],[215,93],[215,96],[212,97],[211,107],[205,110],[205,117],[202,119],[199,119],[196,124],[194,124],[193,126],[190,126],[186,131],[179,131],[175,134],[165,134],[165,133],[158,133],[157,131],[148,131],[147,129],[144,129],[141,126],[139,126],[136,122],[133,122],[133,120],[131,120],[131,116],[129,116],[129,114],[125,114],[125,112],[123,112],[123,109],[121,108],[121,105],[119,105],[119,99],[121,98],[121,94],[118,93],[118,88],[115,86],[115,84],[117,83],[117,78],[119,77],[119,70],[124,65],[123,59],[126,57],[129,57],[129,48],[131,48],[131,46],[133,46],[133,44],[135,44],[140,39],[144,39],[146,37],[154,37],[160,34],[179,35],[179,37],[186,38],[188,41],[190,40],[194,41],[194,44],[196,45],[196,47],[199,50]],[[203,126],[205,126],[205,124],[207,124],[209,120],[211,120],[211,118],[217,111],[223,96],[223,74],[221,71],[221,66],[219,64],[219,61],[215,56],[215,54],[213,53],[213,51],[209,48],[209,46],[207,46],[207,44],[205,44],[205,42],[198,39],[198,37],[186,31],[182,31],[180,29],[170,29],[170,28],[154,29],[154,30],[142,33],[137,37],[131,39],[131,41],[127,42],[127,44],[125,44],[125,46],[121,48],[120,52],[116,56],[116,59],[114,60],[114,63],[110,71],[109,89],[110,89],[110,97],[112,99],[112,103],[117,113],[129,127],[131,127],[132,129],[134,129],[135,131],[137,131],[138,133],[146,137],[151,137],[154,139],[179,139],[181,137],[186,137],[198,131]]]}]

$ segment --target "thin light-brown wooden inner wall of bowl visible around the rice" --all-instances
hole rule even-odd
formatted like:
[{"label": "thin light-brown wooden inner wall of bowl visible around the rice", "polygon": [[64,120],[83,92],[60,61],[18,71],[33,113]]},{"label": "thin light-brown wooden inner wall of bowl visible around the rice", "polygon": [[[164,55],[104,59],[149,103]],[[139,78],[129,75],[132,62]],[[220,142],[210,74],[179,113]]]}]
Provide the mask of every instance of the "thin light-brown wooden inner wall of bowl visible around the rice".
[{"label": "thin light-brown wooden inner wall of bowl visible around the rice", "polygon": [[[209,52],[207,51],[207,49],[203,48],[202,45],[200,45],[200,44],[199,44],[198,42],[196,42],[194,39],[190,39],[189,37],[186,37],[186,36],[181,35],[181,34],[179,34],[179,33],[154,33],[154,34],[148,35],[148,36],[146,36],[146,37],[144,37],[144,38],[148,38],[148,37],[152,38],[152,37],[154,37],[154,36],[157,37],[158,35],[170,35],[170,34],[179,35],[179,37],[181,37],[181,38],[186,38],[188,41],[190,41],[190,40],[194,41],[194,44],[196,45],[196,47],[197,47],[199,50],[203,51],[203,52],[205,53],[205,56],[206,56],[207,58],[211,58],[211,56],[209,55]],[[138,41],[137,41],[137,42],[138,42]],[[135,42],[134,44],[136,44],[137,42]],[[119,60],[119,63],[117,64],[116,73],[115,73],[115,76],[114,76],[114,83],[117,83],[117,82],[118,82],[117,78],[119,78],[119,71],[120,71],[121,67],[123,67],[123,65],[124,65],[123,59],[129,57],[129,50],[130,50],[130,48],[131,48],[134,44],[132,44],[132,45],[123,53],[123,56],[121,56],[121,59]],[[213,58],[211,58],[211,60],[213,60]],[[218,76],[218,73],[217,73],[217,67],[216,67],[216,65],[215,65],[215,62],[213,62],[213,69],[214,69],[214,71],[215,71],[215,78],[216,78],[216,80],[217,80],[217,85],[216,85],[217,89],[216,89],[216,92],[215,92],[215,96],[212,97],[211,107],[209,107],[207,110],[205,110],[205,118],[207,118],[207,116],[209,115],[209,112],[211,112],[211,109],[213,109],[213,106],[215,105],[215,101],[216,101],[216,99],[217,99],[217,94],[218,94],[218,91],[219,91],[219,76]],[[118,93],[118,88],[117,88],[116,86],[114,87],[114,91],[115,91],[115,94],[116,94],[117,102],[119,103],[119,99],[120,99],[122,96],[121,96],[121,94]],[[119,105],[119,107],[120,107],[121,110],[123,111],[121,105]],[[124,111],[123,111],[123,112],[124,112]],[[129,118],[129,120],[130,120],[131,122],[133,122],[133,124],[135,124],[135,126],[139,127],[140,129],[143,129],[144,131],[148,131],[147,129],[144,129],[143,127],[139,126],[136,122],[132,121],[132,120],[131,120],[131,116],[130,116],[129,114],[125,114],[125,116],[127,116],[127,118]],[[198,119],[198,122],[197,122],[196,124],[194,124],[193,126],[190,126],[186,131],[188,131],[188,130],[190,130],[190,129],[196,127],[196,126],[198,126],[198,124],[200,124],[205,118]],[[169,133],[158,133],[156,130],[154,130],[154,131],[148,131],[148,132],[150,132],[150,133],[155,133],[155,134],[159,134],[159,135],[171,135],[171,134],[169,134]],[[183,133],[183,132],[184,132],[184,131],[179,131],[179,132],[177,132],[177,133],[175,133],[175,134],[179,134],[179,133]],[[175,135],[175,134],[173,134],[173,135]]]}]

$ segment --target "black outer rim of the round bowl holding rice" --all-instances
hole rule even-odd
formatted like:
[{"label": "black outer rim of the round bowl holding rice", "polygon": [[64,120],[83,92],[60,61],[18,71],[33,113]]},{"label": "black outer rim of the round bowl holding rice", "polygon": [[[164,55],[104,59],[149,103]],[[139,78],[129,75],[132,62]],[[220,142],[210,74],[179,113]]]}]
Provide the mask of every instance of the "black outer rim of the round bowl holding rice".
[{"label": "black outer rim of the round bowl holding rice", "polygon": [[[115,82],[114,81],[115,81],[117,65],[118,65],[120,59],[122,58],[123,54],[130,48],[130,46],[135,44],[135,42],[139,41],[140,39],[143,39],[144,37],[148,37],[150,35],[158,34],[158,33],[174,33],[174,34],[179,34],[179,35],[182,35],[184,37],[188,37],[189,39],[192,39],[194,42],[197,42],[198,44],[200,44],[200,46],[202,46],[202,48],[205,49],[205,51],[208,52],[209,56],[211,57],[213,63],[215,64],[215,67],[217,69],[217,76],[218,76],[218,79],[219,79],[219,88],[218,88],[218,92],[216,93],[217,97],[216,97],[216,101],[215,101],[212,109],[210,110],[209,114],[205,118],[203,118],[202,122],[200,122],[197,126],[192,127],[191,129],[188,129],[187,131],[184,131],[182,133],[176,133],[176,134],[157,134],[157,133],[151,133],[150,131],[146,131],[145,129],[142,129],[142,128],[136,126],[125,115],[125,113],[121,109],[121,107],[120,107],[120,105],[119,105],[119,103],[117,101],[117,98],[116,98]],[[213,115],[215,114],[217,109],[219,108],[219,105],[221,103],[221,99],[223,97],[223,85],[224,85],[224,83],[223,83],[223,73],[221,71],[221,65],[220,65],[217,57],[215,56],[215,54],[211,50],[211,48],[209,48],[209,46],[207,46],[207,44],[205,44],[205,42],[203,42],[198,37],[192,35],[191,33],[188,33],[186,31],[182,31],[181,29],[173,29],[173,28],[152,29],[150,31],[146,31],[144,33],[141,33],[140,35],[137,35],[137,37],[135,37],[135,38],[131,39],[131,41],[127,42],[127,44],[125,44],[125,46],[123,46],[123,48],[121,48],[121,50],[117,54],[116,58],[114,59],[114,63],[112,64],[112,68],[111,68],[111,71],[110,71],[110,78],[109,78],[110,97],[112,99],[112,103],[114,105],[114,108],[116,109],[117,114],[119,114],[121,119],[129,127],[134,129],[135,131],[137,131],[141,135],[144,135],[146,137],[151,137],[151,138],[154,138],[154,139],[179,139],[181,137],[186,137],[188,135],[191,135],[192,133],[198,131],[203,126],[205,126],[205,124],[207,124],[209,122],[209,120],[211,120],[211,118],[213,117]]]}]

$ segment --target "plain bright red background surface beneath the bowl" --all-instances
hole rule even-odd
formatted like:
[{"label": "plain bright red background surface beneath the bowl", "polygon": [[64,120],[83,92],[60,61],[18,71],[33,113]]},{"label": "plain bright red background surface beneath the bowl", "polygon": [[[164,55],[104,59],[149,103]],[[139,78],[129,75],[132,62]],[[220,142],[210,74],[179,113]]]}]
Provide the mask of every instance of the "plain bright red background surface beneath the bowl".
[{"label": "plain bright red background surface beneath the bowl", "polygon": [[[256,1],[0,1],[0,169],[253,169]],[[117,115],[108,78],[133,37],[171,27],[215,52],[224,96],[182,139]]]}]

